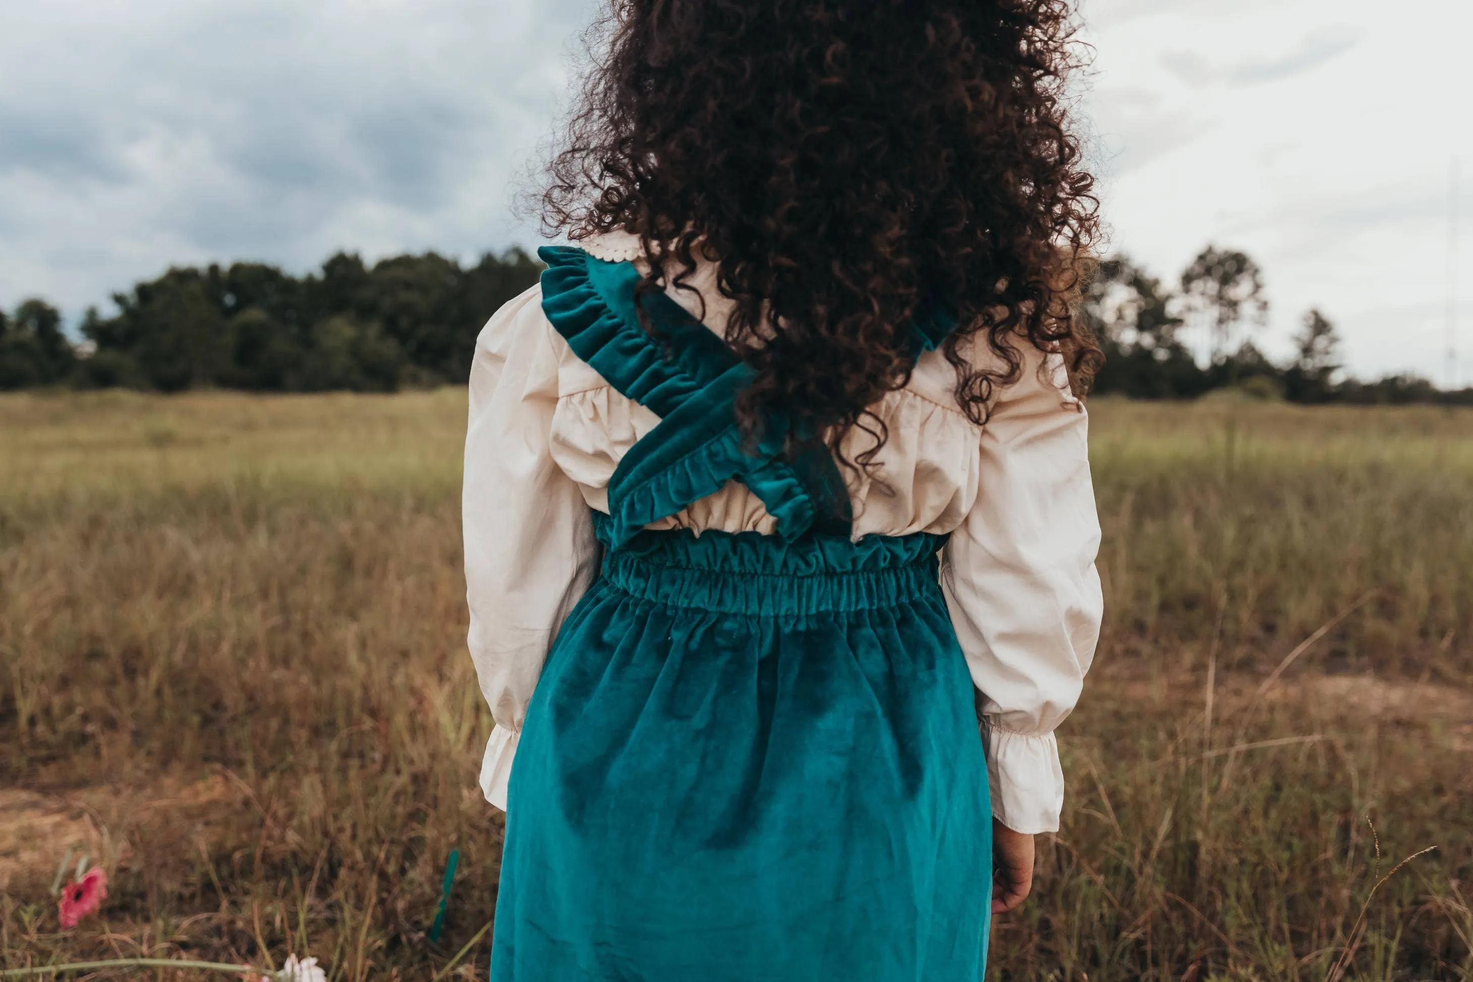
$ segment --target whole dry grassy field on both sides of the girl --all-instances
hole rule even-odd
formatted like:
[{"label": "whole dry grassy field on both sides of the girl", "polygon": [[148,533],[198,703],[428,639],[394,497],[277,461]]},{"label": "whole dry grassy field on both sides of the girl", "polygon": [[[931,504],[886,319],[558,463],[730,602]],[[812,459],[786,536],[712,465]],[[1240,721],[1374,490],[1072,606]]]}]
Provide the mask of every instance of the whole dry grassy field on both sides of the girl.
[{"label": "whole dry grassy field on both sides of the girl", "polygon": [[[464,411],[0,399],[0,972],[485,978]],[[993,978],[1473,981],[1473,412],[1091,411],[1108,624]]]}]

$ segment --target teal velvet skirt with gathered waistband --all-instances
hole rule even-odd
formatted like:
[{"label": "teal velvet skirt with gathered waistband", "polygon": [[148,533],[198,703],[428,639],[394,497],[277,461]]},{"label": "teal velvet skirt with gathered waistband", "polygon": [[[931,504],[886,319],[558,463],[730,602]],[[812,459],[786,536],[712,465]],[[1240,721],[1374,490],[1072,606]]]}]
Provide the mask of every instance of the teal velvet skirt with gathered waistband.
[{"label": "teal velvet skirt with gathered waistband", "polygon": [[511,770],[493,982],[974,982],[991,817],[935,536],[641,533]]}]

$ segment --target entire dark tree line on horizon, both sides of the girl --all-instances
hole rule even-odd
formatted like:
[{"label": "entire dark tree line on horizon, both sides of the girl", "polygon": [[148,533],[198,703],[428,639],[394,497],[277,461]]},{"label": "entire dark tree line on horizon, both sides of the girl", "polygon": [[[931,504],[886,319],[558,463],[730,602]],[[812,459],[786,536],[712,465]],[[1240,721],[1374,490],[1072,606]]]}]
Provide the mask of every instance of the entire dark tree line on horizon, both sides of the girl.
[{"label": "entire dark tree line on horizon, both sides of the girl", "polygon": [[[480,325],[536,283],[541,268],[521,249],[488,253],[468,268],[436,253],[371,266],[337,253],[303,277],[255,262],[181,266],[113,294],[110,317],[88,309],[80,342],[63,330],[56,308],[29,299],[9,315],[0,311],[0,390],[393,392],[460,384],[470,375]],[[1081,315],[1106,358],[1094,392],[1193,399],[1239,389],[1309,403],[1473,405],[1473,389],[1444,392],[1416,375],[1346,377],[1335,325],[1320,311],[1304,315],[1293,358],[1277,364],[1251,337],[1267,314],[1262,272],[1242,252],[1208,247],[1175,284],[1127,256],[1105,259],[1081,296]]]}]

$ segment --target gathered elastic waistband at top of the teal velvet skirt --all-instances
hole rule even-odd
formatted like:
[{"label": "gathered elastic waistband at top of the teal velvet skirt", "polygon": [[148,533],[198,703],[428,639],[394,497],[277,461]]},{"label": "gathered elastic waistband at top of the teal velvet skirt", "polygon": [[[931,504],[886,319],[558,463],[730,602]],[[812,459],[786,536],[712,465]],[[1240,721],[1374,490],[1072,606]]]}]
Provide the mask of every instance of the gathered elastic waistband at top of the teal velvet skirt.
[{"label": "gathered elastic waistband at top of the teal velvet skirt", "polygon": [[604,555],[610,586],[666,607],[788,617],[894,607],[934,595],[943,536],[859,542],[757,533],[644,531]]}]

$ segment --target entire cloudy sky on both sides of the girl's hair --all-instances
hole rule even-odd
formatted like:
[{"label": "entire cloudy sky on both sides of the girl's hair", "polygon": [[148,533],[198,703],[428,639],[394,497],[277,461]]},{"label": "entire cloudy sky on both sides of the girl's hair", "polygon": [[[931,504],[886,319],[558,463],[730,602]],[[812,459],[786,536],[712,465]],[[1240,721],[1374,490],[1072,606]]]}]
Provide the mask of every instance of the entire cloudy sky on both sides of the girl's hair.
[{"label": "entire cloudy sky on both sides of the girl's hair", "polygon": [[[0,305],[78,317],[171,264],[535,244],[513,208],[594,0],[0,0]],[[1084,0],[1111,246],[1264,266],[1363,375],[1445,378],[1466,0]],[[1473,237],[1457,266],[1473,289]],[[1466,305],[1464,305],[1466,308]],[[1466,317],[1461,381],[1473,381]]]}]

